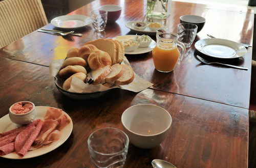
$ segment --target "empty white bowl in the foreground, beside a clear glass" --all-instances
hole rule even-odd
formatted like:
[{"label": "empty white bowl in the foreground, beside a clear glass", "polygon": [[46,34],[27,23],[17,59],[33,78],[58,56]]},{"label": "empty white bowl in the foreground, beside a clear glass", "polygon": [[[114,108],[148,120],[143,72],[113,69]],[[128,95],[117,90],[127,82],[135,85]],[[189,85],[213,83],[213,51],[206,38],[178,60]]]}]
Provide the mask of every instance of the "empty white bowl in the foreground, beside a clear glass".
[{"label": "empty white bowl in the foreground, beside a clear glass", "polygon": [[172,124],[172,117],[168,111],[157,105],[138,104],[123,112],[121,122],[134,146],[150,149],[164,140]]}]

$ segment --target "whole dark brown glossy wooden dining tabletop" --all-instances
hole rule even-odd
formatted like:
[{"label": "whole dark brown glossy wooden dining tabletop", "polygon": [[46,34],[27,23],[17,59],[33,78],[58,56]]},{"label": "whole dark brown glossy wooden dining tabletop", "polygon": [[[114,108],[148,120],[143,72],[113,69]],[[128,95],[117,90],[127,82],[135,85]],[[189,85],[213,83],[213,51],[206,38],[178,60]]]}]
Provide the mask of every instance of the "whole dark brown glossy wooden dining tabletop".
[{"label": "whole dark brown glossy wooden dining tabletop", "polygon": [[[125,54],[134,72],[154,83],[139,93],[112,89],[97,99],[75,100],[61,94],[49,73],[53,60],[65,59],[71,47],[98,38],[136,34],[125,26],[128,21],[142,20],[147,1],[95,0],[73,12],[90,16],[90,11],[105,4],[122,7],[121,16],[96,33],[92,25],[75,30],[82,37],[56,36],[34,31],[0,49],[0,118],[18,101],[31,101],[36,106],[61,108],[72,119],[73,131],[65,143],[53,151],[30,159],[0,158],[0,167],[94,167],[87,139],[95,130],[115,127],[123,130],[121,115],[135,104],[155,104],[165,108],[173,123],[164,141],[153,149],[140,149],[132,144],[124,167],[152,167],[153,159],[172,162],[177,167],[247,167],[248,108],[252,47],[237,59],[218,60],[239,70],[219,65],[204,65],[196,55],[195,42],[206,34],[252,45],[253,11],[236,11],[209,5],[172,2],[166,19],[169,32],[177,33],[179,17],[185,14],[206,18],[194,44],[173,72],[155,70],[152,53]],[[52,24],[45,29],[56,29]],[[151,36],[154,40],[155,37]],[[209,57],[204,58],[211,59]],[[1,125],[1,123],[0,123]]]}]

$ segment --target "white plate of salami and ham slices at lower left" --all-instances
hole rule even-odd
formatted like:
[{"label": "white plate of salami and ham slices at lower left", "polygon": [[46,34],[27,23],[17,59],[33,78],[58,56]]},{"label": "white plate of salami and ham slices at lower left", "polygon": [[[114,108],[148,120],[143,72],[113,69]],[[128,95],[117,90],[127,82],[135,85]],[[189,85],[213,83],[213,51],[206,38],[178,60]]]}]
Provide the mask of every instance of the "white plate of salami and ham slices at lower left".
[{"label": "white plate of salami and ham slices at lower left", "polygon": [[19,126],[9,115],[0,119],[0,155],[9,159],[27,159],[46,154],[70,136],[73,123],[59,108],[36,106],[36,119]]}]

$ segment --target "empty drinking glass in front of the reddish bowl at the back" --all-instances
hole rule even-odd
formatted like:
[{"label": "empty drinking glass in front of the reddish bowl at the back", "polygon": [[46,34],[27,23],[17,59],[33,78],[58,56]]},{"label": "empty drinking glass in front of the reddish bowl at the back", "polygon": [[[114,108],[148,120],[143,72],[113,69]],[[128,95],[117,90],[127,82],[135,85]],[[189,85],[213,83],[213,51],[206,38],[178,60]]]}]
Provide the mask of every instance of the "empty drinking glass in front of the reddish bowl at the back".
[{"label": "empty drinking glass in front of the reddish bowl at the back", "polygon": [[103,10],[95,9],[91,11],[91,19],[94,29],[97,32],[104,31],[106,27],[106,20],[108,18],[108,12]]}]

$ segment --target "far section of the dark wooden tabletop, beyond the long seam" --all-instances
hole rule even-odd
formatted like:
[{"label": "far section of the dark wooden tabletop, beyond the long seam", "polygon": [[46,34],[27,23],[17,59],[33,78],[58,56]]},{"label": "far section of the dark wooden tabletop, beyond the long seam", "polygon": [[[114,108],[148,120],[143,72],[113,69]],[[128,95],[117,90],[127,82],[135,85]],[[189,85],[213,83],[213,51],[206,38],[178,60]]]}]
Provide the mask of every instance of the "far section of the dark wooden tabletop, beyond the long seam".
[{"label": "far section of the dark wooden tabletop, beyond the long seam", "polygon": [[[0,56],[49,66],[53,59],[65,58],[68,49],[73,46],[80,47],[84,43],[98,38],[114,38],[119,35],[134,34],[125,27],[125,22],[141,20],[146,11],[146,1],[94,1],[70,14],[89,16],[91,9],[105,4],[120,5],[122,13],[116,23],[106,26],[103,33],[95,33],[91,26],[77,30],[83,34],[82,37],[61,37],[33,32],[2,48]],[[206,18],[205,26],[198,33],[195,42],[206,38],[206,34],[211,34],[219,38],[252,44],[254,14],[249,10],[237,12],[211,8],[208,5],[173,2],[171,15],[166,21],[170,32],[177,32],[179,17],[185,14],[195,14]],[[45,28],[53,29],[54,27],[49,24]],[[152,38],[155,39],[155,37]],[[252,49],[248,48],[243,58],[226,62],[247,67],[248,71],[203,65],[196,58],[196,54],[200,53],[194,45],[187,48],[181,64],[177,65],[175,70],[170,73],[160,73],[155,70],[151,52],[126,55],[126,57],[140,77],[155,83],[153,89],[248,108]],[[221,60],[217,61],[222,62]]]}]

